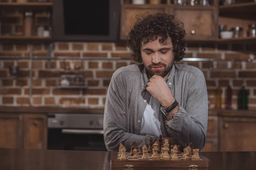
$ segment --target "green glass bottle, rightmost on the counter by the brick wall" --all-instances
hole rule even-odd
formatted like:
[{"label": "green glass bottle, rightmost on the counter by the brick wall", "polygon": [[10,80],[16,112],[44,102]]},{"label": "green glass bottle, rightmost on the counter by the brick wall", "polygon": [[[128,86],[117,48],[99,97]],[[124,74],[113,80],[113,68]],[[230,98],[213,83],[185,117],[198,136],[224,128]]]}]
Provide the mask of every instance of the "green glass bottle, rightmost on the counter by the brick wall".
[{"label": "green glass bottle, rightmost on the counter by the brick wall", "polygon": [[237,109],[238,110],[247,110],[248,109],[248,91],[245,90],[245,87],[239,90],[237,94]]}]

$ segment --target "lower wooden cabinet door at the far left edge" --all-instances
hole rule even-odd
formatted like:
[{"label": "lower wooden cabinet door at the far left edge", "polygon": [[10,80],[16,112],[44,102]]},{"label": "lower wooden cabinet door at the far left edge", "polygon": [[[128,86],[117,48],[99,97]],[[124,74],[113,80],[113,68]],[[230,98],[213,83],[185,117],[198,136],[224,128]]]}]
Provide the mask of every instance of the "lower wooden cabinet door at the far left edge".
[{"label": "lower wooden cabinet door at the far left edge", "polygon": [[23,147],[22,114],[0,113],[0,147]]}]

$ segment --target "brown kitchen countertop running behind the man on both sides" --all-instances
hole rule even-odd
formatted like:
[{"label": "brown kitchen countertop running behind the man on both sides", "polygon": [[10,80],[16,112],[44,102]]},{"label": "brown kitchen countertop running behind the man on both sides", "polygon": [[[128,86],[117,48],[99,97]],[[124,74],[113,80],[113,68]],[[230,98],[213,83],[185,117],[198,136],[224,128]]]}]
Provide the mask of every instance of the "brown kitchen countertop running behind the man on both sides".
[{"label": "brown kitchen countertop running behind the man on both sides", "polygon": [[[49,106],[0,106],[0,113],[96,113],[103,114],[104,108],[49,107]],[[256,117],[256,110],[209,109],[209,116]]]}]

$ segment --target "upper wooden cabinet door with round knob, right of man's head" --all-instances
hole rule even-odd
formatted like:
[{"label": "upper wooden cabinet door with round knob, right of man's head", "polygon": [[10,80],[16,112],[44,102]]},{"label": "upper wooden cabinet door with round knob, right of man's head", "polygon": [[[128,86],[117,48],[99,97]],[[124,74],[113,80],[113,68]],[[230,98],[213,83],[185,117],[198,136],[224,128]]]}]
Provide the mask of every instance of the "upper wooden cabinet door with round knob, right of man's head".
[{"label": "upper wooden cabinet door with round knob, right of man's head", "polygon": [[184,23],[187,40],[216,38],[217,12],[215,8],[173,8],[177,20]]}]

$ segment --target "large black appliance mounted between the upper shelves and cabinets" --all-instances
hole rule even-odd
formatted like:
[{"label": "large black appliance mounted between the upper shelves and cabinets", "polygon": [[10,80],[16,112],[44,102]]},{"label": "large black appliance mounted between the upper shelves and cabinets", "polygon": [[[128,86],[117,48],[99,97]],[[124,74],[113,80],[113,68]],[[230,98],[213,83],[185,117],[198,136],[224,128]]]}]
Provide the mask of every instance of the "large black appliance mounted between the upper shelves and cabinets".
[{"label": "large black appliance mounted between the upper shelves and cabinets", "polygon": [[120,0],[53,0],[53,39],[116,42],[120,8]]}]

